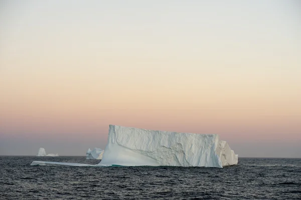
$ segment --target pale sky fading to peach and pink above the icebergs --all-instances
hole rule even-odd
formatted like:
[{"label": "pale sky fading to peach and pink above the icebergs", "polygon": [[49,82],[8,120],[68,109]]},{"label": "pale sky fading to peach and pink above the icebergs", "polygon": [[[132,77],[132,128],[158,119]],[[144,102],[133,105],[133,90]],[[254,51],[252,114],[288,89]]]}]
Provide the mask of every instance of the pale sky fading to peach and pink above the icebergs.
[{"label": "pale sky fading to peach and pink above the icebergs", "polygon": [[301,157],[301,3],[0,1],[0,155],[85,155],[109,124]]}]

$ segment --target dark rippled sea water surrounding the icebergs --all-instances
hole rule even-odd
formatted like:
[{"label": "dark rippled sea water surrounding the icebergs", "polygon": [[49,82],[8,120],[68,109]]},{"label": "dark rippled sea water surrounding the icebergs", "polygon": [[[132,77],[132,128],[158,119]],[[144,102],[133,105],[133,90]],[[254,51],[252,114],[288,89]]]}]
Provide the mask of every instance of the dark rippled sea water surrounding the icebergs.
[{"label": "dark rippled sea water surrounding the icebergs", "polygon": [[0,199],[301,199],[301,159],[239,158],[224,168],[97,164],[84,156],[0,156]]}]

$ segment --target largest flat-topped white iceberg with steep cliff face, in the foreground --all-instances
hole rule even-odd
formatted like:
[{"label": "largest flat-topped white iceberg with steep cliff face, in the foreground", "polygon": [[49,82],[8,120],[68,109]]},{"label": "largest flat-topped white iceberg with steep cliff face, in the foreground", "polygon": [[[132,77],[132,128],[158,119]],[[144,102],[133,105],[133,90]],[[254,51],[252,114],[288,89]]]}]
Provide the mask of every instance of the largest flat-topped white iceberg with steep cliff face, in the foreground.
[{"label": "largest flat-topped white iceberg with steep cliff face, in the foreground", "polygon": [[205,166],[237,164],[238,155],[215,134],[109,126],[100,166]]}]

